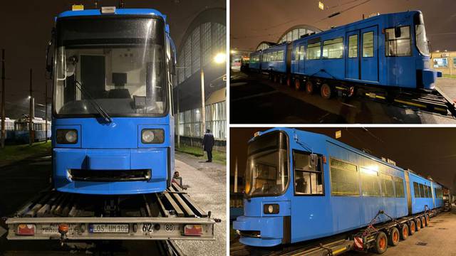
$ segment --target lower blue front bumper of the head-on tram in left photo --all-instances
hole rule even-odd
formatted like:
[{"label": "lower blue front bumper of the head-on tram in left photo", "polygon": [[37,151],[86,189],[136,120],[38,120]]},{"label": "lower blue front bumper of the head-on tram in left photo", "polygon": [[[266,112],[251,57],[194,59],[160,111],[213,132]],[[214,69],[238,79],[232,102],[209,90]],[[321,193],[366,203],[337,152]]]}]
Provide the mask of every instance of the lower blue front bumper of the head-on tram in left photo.
[{"label": "lower blue front bumper of the head-on tram in left photo", "polygon": [[53,149],[57,191],[99,195],[158,193],[167,187],[169,149]]}]

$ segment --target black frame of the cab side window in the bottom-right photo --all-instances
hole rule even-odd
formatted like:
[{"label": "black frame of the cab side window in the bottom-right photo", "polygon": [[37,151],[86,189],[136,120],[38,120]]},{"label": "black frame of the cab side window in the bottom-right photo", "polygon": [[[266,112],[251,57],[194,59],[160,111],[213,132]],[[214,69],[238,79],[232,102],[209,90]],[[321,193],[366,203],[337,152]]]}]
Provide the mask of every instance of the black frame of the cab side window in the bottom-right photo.
[{"label": "black frame of the cab side window in the bottom-right photo", "polygon": [[[324,181],[324,168],[323,168],[323,156],[321,154],[316,154],[317,156],[317,166],[316,166],[316,171],[313,170],[307,170],[307,169],[297,169],[296,168],[296,154],[301,154],[301,155],[306,155],[311,156],[310,152],[307,151],[301,151],[301,150],[293,150],[293,174],[294,174],[294,195],[295,196],[325,196],[325,181]],[[318,170],[319,169],[319,170]],[[297,192],[296,191],[296,172],[301,172],[303,174],[308,173],[309,174],[309,179],[311,179],[311,174],[316,174],[316,185],[319,186],[318,184],[318,175],[320,176],[320,181],[321,181],[321,191],[318,192],[318,190],[315,193],[312,193],[312,182],[310,182],[310,193],[304,193],[304,192]]]}]

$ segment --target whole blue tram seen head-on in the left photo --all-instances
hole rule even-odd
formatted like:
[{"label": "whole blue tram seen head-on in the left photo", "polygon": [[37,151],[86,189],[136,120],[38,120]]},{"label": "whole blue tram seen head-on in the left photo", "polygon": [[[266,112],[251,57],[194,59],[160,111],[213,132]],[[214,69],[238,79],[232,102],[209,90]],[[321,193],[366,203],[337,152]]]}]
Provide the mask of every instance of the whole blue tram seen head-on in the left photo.
[{"label": "whole blue tram seen head-on in the left photo", "polygon": [[56,17],[53,182],[86,194],[162,192],[174,169],[175,45],[155,9]]}]

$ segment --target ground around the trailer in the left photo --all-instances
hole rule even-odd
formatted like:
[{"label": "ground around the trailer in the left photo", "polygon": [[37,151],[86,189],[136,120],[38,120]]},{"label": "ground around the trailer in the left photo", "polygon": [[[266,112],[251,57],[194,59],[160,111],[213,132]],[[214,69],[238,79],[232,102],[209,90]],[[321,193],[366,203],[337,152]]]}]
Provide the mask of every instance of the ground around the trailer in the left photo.
[{"label": "ground around the trailer in the left photo", "polygon": [[[180,160],[181,159],[181,160]],[[190,163],[190,164],[185,164]],[[187,192],[213,218],[222,219],[215,226],[214,241],[178,241],[186,255],[226,255],[226,167],[199,163],[190,155],[177,154],[175,168],[180,171]],[[201,165],[202,167],[198,167]],[[41,156],[0,168],[0,217],[8,217],[38,191],[47,188],[52,174],[51,157]],[[9,241],[0,221],[0,256],[3,255],[158,255],[154,241],[104,241],[86,251],[61,247],[58,241]]]}]

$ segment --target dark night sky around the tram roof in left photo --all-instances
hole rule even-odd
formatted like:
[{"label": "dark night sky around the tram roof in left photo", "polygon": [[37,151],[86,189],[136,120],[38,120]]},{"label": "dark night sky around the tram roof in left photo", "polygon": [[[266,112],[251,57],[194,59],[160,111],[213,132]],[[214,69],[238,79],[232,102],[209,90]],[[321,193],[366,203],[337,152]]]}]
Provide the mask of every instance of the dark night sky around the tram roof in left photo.
[{"label": "dark night sky around the tram roof in left photo", "polygon": [[[125,8],[153,8],[167,15],[167,23],[178,47],[187,26],[204,9],[226,7],[224,0],[125,0]],[[29,69],[33,68],[35,102],[44,103],[46,46],[51,38],[53,18],[72,4],[93,8],[94,1],[46,0],[2,1],[0,6],[0,48],[6,49],[6,110],[14,107],[28,113]],[[100,6],[118,6],[119,1],[98,1]],[[1,54],[1,53],[0,53]],[[39,107],[39,105],[38,105]],[[37,107],[37,108],[38,108]],[[9,113],[6,112],[6,117]]]}]

